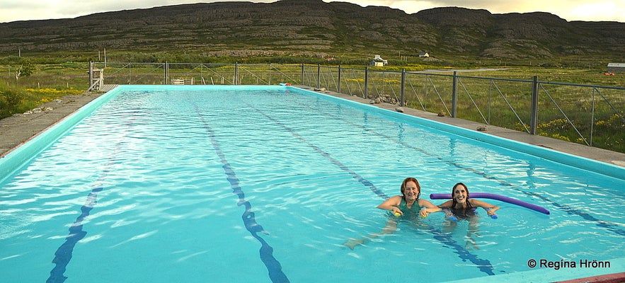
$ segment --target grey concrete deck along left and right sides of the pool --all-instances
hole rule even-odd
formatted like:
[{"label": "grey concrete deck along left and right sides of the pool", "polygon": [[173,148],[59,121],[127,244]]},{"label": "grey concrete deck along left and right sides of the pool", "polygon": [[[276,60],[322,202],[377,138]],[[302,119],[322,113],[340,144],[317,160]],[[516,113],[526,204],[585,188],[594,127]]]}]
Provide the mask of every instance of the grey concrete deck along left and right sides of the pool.
[{"label": "grey concrete deck along left and right sides of the pool", "polygon": [[[308,86],[297,86],[298,88],[306,89],[309,91],[315,91],[315,88]],[[90,103],[92,100],[115,88],[115,85],[107,85],[101,91],[86,91],[85,93],[72,96],[64,96],[55,101],[44,103],[37,110],[28,112],[27,114],[13,115],[12,117],[6,117],[0,120],[0,157],[4,157],[8,152],[16,149],[21,144],[33,139],[47,128],[55,125],[67,115],[75,112],[82,106]],[[370,100],[349,96],[343,93],[336,93],[333,91],[317,91],[330,96],[336,96],[347,100],[352,100],[358,103],[369,104]],[[375,104],[379,108],[395,111],[398,105],[390,103]],[[616,166],[625,167],[625,154],[621,154],[616,151],[608,151],[605,149],[599,149],[592,146],[585,146],[583,144],[575,144],[568,141],[562,141],[560,139],[552,139],[549,137],[542,137],[538,135],[527,134],[526,132],[518,132],[512,129],[505,129],[502,127],[496,127],[492,125],[486,125],[478,122],[471,122],[467,120],[461,120],[452,117],[439,117],[436,113],[425,112],[422,110],[416,110],[412,108],[403,108],[403,113],[407,115],[413,115],[415,117],[421,117],[424,119],[442,122],[465,129],[477,130],[478,127],[486,127],[487,134],[492,134],[497,137],[503,137],[514,141],[519,141],[524,144],[533,144],[535,146],[541,146],[547,149],[553,149],[554,151],[561,151],[566,154],[575,156],[582,156],[596,161],[602,161]]]}]

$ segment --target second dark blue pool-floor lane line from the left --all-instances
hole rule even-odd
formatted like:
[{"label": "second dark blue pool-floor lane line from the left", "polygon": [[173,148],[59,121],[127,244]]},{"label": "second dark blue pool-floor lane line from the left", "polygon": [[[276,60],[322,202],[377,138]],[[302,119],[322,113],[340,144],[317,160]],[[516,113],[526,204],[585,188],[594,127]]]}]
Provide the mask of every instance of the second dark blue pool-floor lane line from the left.
[{"label": "second dark blue pool-floor lane line from the left", "polygon": [[252,236],[260,242],[260,260],[263,261],[265,267],[267,267],[271,282],[289,282],[287,275],[282,272],[282,265],[280,265],[280,262],[277,261],[273,256],[273,248],[267,243],[267,241],[265,241],[265,239],[263,239],[263,237],[260,237],[258,235],[258,232],[266,232],[263,229],[263,226],[260,226],[260,224],[256,223],[254,212],[251,211],[252,205],[250,204],[250,202],[245,200],[245,193],[243,192],[243,190],[241,190],[241,185],[239,185],[239,178],[236,177],[236,173],[230,166],[230,163],[228,163],[226,156],[222,151],[222,147],[219,146],[219,141],[217,141],[217,138],[215,137],[212,128],[206,122],[205,117],[202,115],[197,105],[195,105],[195,110],[197,110],[198,115],[200,115],[200,120],[202,120],[202,124],[204,125],[210,137],[210,142],[217,152],[217,156],[219,156],[219,159],[222,161],[222,168],[224,168],[224,171],[227,175],[228,182],[232,187],[232,192],[235,195],[239,196],[238,205],[245,206],[245,212],[243,212],[243,215],[241,216],[241,218],[243,219],[243,224],[245,224],[245,228],[252,234]]}]

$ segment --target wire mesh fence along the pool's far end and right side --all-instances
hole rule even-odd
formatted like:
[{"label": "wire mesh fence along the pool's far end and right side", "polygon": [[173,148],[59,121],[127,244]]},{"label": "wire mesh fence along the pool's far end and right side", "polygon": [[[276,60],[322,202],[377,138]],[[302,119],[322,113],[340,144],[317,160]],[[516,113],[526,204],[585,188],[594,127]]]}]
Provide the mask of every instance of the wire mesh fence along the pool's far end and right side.
[{"label": "wire mesh fence along the pool's far end and right side", "polygon": [[[92,63],[106,84],[292,85],[625,152],[625,88],[309,64]],[[90,75],[93,81],[93,74]]]}]

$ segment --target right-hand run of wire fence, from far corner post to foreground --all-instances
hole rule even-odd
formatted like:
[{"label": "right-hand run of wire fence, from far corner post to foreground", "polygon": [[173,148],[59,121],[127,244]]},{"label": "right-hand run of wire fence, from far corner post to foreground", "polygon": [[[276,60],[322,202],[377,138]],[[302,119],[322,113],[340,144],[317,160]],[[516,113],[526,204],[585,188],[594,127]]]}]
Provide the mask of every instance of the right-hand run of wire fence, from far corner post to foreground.
[{"label": "right-hand run of wire fence, from far corner post to foreground", "polygon": [[625,152],[625,88],[457,74],[302,67],[302,84]]}]

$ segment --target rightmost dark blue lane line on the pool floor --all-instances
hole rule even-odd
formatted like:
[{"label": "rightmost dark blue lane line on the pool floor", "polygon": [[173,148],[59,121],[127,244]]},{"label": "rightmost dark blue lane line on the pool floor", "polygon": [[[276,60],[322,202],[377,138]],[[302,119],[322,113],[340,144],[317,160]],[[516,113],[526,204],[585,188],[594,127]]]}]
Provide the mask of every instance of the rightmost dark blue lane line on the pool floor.
[{"label": "rightmost dark blue lane line on the pool floor", "polygon": [[[446,160],[445,158],[442,158],[442,157],[437,156],[435,154],[430,154],[429,152],[424,151],[423,149],[419,149],[418,147],[415,147],[415,146],[413,146],[411,144],[408,144],[405,141],[398,141],[398,140],[396,140],[396,139],[394,139],[392,137],[386,136],[385,134],[381,134],[379,132],[376,132],[374,129],[367,129],[366,127],[364,127],[362,125],[356,125],[356,124],[352,123],[349,120],[344,120],[343,117],[337,117],[336,115],[332,115],[332,114],[329,114],[327,112],[321,112],[318,109],[312,108],[310,105],[306,105],[306,104],[303,104],[303,103],[297,103],[297,104],[300,105],[300,106],[312,109],[312,110],[316,110],[317,112],[321,113],[322,115],[328,115],[328,116],[333,117],[334,119],[343,120],[343,121],[349,123],[350,125],[353,125],[355,127],[360,127],[365,132],[371,132],[372,134],[376,134],[379,137],[384,137],[385,139],[389,139],[389,141],[397,142],[397,143],[401,144],[402,146],[406,146],[406,148],[408,148],[408,149],[414,149],[415,151],[419,151],[420,153],[425,154],[427,156],[430,156],[430,157],[433,157],[433,158],[437,158],[438,160],[446,162],[446,163],[449,163],[450,165],[455,166],[455,167],[457,167],[459,169],[463,169],[463,170],[469,171],[471,173],[474,173],[476,175],[480,175],[483,178],[486,178],[488,180],[495,180],[498,183],[500,183],[500,185],[508,186],[508,187],[516,187],[515,185],[513,185],[511,183],[508,183],[508,181],[499,180],[498,178],[493,177],[491,175],[488,175],[487,173],[485,173],[483,171],[477,171],[474,168],[463,166],[463,165],[461,165],[461,164],[459,164],[459,163],[457,163],[455,161]],[[519,192],[522,192],[525,195],[529,195],[531,197],[538,197],[539,199],[544,200],[545,202],[549,202],[550,204],[553,204],[554,207],[557,207],[558,209],[560,209],[563,212],[566,212],[567,214],[577,215],[577,216],[580,216],[583,219],[586,219],[588,221],[595,221],[595,222],[597,222],[597,224],[596,224],[597,226],[602,227],[604,229],[607,229],[608,231],[611,231],[613,233],[617,233],[619,235],[625,236],[625,231],[623,229],[620,229],[617,224],[612,224],[609,221],[604,221],[604,220],[601,220],[601,219],[597,219],[595,216],[587,214],[586,212],[582,212],[579,209],[573,209],[573,208],[568,207],[566,205],[558,204],[557,202],[549,200],[549,198],[544,197],[542,195],[539,195],[539,194],[537,194],[535,192],[526,192],[526,191],[518,189],[518,188],[517,188],[517,190]]]}]

